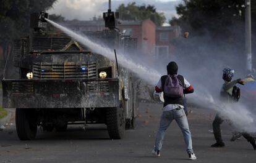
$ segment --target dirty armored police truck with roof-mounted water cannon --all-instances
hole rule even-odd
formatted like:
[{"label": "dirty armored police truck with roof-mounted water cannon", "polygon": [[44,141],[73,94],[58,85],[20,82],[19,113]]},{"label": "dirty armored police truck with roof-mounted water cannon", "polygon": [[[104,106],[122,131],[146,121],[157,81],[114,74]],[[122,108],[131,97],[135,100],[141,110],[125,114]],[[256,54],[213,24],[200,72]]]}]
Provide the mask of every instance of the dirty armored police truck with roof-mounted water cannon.
[{"label": "dirty armored police truck with roof-mounted water cannon", "polygon": [[[114,12],[104,13],[109,30],[88,32],[95,41],[126,50],[136,39],[115,30]],[[106,124],[109,137],[120,139],[137,117],[136,79],[129,70],[95,54],[61,31],[50,31],[46,12],[32,14],[30,36],[14,42],[19,79],[3,79],[3,106],[16,108],[20,140],[33,140],[38,127],[64,131],[71,124]],[[110,38],[110,39],[109,39]]]}]

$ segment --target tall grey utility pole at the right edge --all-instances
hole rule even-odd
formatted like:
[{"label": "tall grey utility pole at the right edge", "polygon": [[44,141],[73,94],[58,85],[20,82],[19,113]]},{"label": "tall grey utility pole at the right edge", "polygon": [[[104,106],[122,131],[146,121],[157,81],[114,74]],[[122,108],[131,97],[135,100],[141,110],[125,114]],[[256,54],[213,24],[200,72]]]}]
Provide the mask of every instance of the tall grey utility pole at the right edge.
[{"label": "tall grey utility pole at the right edge", "polygon": [[247,55],[247,71],[252,72],[252,26],[250,0],[245,0],[245,52]]}]

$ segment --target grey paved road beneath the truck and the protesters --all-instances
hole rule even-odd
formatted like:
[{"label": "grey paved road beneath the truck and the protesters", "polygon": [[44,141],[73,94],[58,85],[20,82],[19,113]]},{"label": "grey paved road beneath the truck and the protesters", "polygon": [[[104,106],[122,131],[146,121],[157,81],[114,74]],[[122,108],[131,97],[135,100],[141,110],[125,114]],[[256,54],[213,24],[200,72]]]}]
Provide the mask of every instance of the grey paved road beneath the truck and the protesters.
[{"label": "grey paved road beneath the truck and the protesters", "polygon": [[[109,140],[105,125],[69,127],[64,133],[38,132],[34,141],[20,141],[15,126],[0,132],[0,162],[191,162],[187,160],[182,134],[176,122],[171,124],[164,140],[161,157],[152,157],[151,149],[161,114],[161,105],[140,103],[137,129],[127,130],[122,140]],[[210,148],[214,143],[211,122],[214,113],[193,109],[189,115],[190,129],[197,161],[194,162],[256,162],[256,151],[241,138],[235,142],[231,130],[223,124],[225,148]]]}]

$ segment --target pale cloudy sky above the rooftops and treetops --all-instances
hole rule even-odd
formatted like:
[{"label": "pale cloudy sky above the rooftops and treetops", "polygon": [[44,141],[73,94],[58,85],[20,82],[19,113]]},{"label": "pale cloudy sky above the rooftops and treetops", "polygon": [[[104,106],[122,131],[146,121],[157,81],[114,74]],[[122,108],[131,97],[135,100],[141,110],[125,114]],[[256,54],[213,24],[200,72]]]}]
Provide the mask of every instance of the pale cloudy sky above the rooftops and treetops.
[{"label": "pale cloudy sky above the rooftops and treetops", "polygon": [[[176,15],[175,6],[181,0],[112,0],[112,9],[124,3],[136,2],[137,4],[151,4],[158,12],[164,12],[167,20]],[[50,9],[49,14],[61,14],[69,20],[74,18],[79,20],[90,20],[93,16],[101,15],[108,9],[108,0],[58,0]]]}]

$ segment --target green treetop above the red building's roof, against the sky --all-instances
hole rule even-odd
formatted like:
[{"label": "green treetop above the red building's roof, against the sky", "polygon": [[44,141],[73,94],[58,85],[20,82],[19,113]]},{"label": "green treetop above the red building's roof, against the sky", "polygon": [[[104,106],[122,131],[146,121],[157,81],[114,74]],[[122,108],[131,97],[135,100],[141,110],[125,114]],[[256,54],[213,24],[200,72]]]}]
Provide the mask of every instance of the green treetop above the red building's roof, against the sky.
[{"label": "green treetop above the red building's roof, against the sky", "polygon": [[121,20],[145,20],[150,18],[157,26],[163,25],[166,18],[162,12],[156,12],[155,6],[143,4],[137,6],[135,2],[127,4],[121,4],[117,9]]}]

